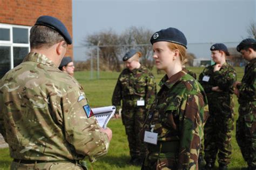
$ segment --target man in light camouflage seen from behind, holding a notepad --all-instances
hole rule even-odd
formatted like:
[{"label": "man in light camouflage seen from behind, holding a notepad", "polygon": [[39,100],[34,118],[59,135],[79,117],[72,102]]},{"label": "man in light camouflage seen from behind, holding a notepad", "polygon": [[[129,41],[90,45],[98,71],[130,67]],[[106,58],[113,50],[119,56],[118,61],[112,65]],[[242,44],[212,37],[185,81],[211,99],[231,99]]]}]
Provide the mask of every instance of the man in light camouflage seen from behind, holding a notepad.
[{"label": "man in light camouflage seen from behind, holding a notepad", "polygon": [[11,169],[86,169],[81,160],[107,153],[112,131],[99,127],[83,87],[58,69],[71,43],[62,22],[39,17],[31,51],[0,80],[0,132]]}]

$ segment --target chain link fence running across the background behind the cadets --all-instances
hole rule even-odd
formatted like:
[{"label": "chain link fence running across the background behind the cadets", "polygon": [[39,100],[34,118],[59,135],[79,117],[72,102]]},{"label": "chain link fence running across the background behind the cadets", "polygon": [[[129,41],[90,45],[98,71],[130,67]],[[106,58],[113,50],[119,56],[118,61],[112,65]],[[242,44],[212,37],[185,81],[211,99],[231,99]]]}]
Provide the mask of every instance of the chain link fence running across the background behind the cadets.
[{"label": "chain link fence running across the background behind the cadets", "polygon": [[[210,43],[188,43],[187,53],[192,53],[194,59],[193,66],[204,66],[204,63],[211,63],[210,47],[219,42]],[[239,57],[236,46],[240,42],[221,42],[224,43],[231,53],[231,56]],[[122,58],[130,49],[137,49],[143,53],[141,62],[147,66],[153,66],[153,51],[151,44],[133,45],[95,45],[95,46],[73,46],[73,58],[76,64],[76,71],[90,70],[91,79],[99,78],[100,71],[123,69]],[[240,57],[241,58],[241,57]],[[244,65],[244,60],[240,59],[236,65]],[[97,77],[93,77],[93,72],[97,72]]]}]

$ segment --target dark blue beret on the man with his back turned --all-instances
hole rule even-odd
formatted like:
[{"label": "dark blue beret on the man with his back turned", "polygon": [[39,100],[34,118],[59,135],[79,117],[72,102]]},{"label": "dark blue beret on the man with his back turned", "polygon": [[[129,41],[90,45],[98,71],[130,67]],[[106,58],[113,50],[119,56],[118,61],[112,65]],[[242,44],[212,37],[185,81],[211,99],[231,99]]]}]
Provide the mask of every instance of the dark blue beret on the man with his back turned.
[{"label": "dark blue beret on the man with his back turned", "polygon": [[37,18],[35,25],[48,26],[60,33],[68,44],[72,44],[71,36],[69,31],[66,29],[65,25],[59,21],[59,19],[51,16],[41,16]]}]

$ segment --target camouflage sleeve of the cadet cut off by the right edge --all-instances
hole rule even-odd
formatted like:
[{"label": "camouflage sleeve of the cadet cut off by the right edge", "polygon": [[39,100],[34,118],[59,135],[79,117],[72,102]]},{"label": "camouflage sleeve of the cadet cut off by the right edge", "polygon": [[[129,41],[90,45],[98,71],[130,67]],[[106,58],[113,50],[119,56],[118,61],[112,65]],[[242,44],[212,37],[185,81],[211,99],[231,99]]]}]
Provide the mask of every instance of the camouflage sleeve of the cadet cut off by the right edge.
[{"label": "camouflage sleeve of the cadet cut off by the right edge", "polygon": [[239,99],[246,101],[255,101],[256,99],[256,70],[254,69],[250,74],[250,78],[248,78],[248,82],[241,83],[238,86],[239,90]]}]

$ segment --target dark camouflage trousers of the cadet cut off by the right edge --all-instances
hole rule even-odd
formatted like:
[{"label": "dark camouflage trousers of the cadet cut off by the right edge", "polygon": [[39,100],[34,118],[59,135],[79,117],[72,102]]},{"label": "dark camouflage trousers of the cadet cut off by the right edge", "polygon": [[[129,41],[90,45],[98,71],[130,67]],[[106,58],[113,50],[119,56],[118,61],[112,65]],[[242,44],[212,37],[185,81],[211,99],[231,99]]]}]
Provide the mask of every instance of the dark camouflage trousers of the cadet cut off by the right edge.
[{"label": "dark camouflage trousers of the cadet cut off by the right edge", "polygon": [[240,105],[238,111],[235,138],[248,166],[256,168],[256,104]]}]

